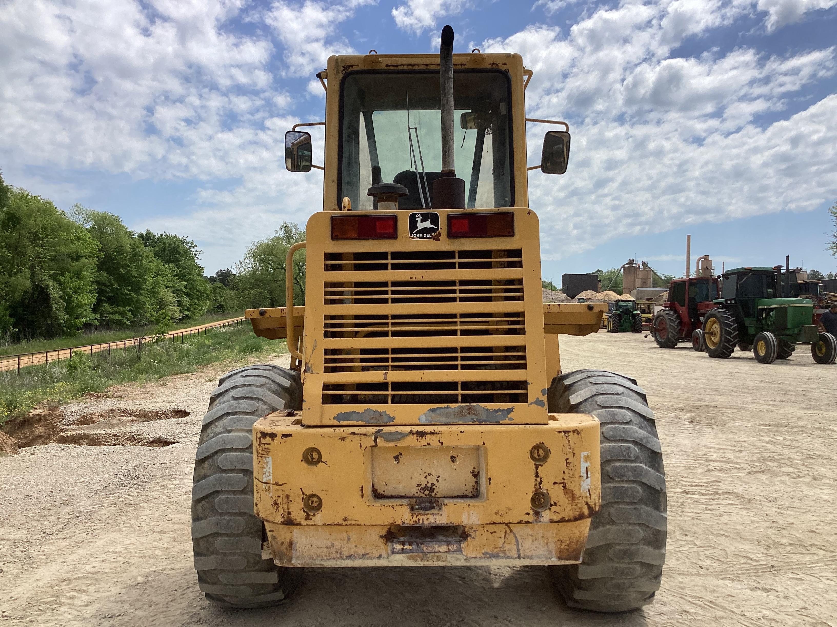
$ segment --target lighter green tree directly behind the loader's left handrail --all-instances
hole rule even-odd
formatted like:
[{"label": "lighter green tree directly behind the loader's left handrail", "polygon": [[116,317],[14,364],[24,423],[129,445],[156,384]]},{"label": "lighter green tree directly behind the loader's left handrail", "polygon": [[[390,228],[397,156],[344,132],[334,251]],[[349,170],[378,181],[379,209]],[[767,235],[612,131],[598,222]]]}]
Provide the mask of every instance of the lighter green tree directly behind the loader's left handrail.
[{"label": "lighter green tree directly behind the loader's left handrail", "polygon": [[[285,257],[296,242],[305,241],[300,227],[283,222],[274,237],[255,242],[235,266],[234,287],[242,308],[285,306]],[[305,304],[306,252],[294,256],[294,303]]]}]

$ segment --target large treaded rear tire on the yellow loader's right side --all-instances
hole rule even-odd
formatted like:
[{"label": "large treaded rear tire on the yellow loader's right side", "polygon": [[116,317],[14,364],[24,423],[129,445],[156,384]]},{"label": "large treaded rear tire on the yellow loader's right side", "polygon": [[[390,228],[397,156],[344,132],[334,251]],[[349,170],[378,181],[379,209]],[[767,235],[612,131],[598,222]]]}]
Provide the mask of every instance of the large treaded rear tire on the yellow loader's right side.
[{"label": "large treaded rear tire on the yellow loader's right side", "polygon": [[633,379],[576,370],[549,388],[550,412],[593,414],[601,423],[602,508],[593,516],[582,563],[551,566],[567,605],[623,612],[660,589],[667,527],[665,471],[654,414]]}]

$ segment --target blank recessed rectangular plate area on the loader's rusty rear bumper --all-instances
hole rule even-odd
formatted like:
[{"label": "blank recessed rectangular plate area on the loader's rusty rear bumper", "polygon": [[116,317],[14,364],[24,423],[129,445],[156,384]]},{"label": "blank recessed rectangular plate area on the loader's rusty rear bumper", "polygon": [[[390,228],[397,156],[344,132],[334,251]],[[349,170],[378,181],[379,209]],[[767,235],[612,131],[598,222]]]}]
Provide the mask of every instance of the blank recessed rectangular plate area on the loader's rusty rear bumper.
[{"label": "blank recessed rectangular plate area on the loader's rusty rear bumper", "polygon": [[372,446],[376,500],[479,499],[484,493],[482,446]]}]

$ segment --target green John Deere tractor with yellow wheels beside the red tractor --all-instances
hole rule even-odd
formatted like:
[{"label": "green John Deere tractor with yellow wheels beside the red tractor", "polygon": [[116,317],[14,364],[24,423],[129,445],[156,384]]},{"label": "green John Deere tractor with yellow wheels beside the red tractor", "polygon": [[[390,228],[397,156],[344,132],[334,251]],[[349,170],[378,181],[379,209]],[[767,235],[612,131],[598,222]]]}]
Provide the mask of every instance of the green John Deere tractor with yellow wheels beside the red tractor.
[{"label": "green John Deere tractor with yellow wheels beside the red tractor", "polygon": [[721,298],[703,320],[710,357],[729,357],[737,346],[752,350],[760,364],[772,364],[788,359],[797,344],[810,344],[814,361],[834,364],[837,339],[819,333],[814,303],[808,298],[782,297],[779,272],[777,267],[735,268],[724,273]]}]

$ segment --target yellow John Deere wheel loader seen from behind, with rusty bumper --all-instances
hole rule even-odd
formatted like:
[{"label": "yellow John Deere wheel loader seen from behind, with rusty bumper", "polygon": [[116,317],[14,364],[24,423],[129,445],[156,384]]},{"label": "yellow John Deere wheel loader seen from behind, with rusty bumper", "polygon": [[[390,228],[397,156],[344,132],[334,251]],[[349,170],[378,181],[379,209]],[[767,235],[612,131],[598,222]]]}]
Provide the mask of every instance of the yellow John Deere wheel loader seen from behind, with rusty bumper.
[{"label": "yellow John Deere wheel loader seen from behind, with rusty bumper", "polygon": [[[306,304],[246,314],[291,364],[224,376],[198,444],[194,562],[218,604],[279,603],[303,567],[540,565],[598,611],[660,587],[654,415],[633,379],[562,372],[557,334],[595,333],[605,305],[542,303],[531,71],[453,39],[318,75],[323,206],[289,252],[306,247]],[[547,174],[567,168],[555,124]],[[312,153],[289,132],[290,170]]]}]

